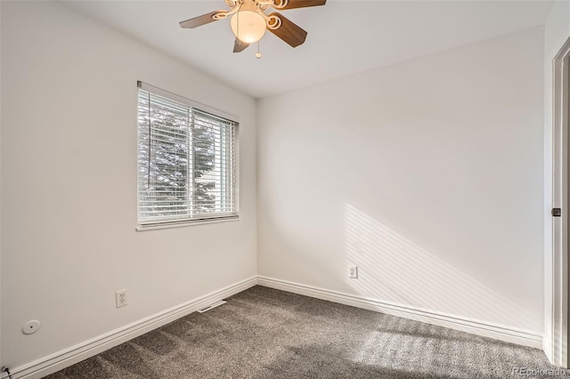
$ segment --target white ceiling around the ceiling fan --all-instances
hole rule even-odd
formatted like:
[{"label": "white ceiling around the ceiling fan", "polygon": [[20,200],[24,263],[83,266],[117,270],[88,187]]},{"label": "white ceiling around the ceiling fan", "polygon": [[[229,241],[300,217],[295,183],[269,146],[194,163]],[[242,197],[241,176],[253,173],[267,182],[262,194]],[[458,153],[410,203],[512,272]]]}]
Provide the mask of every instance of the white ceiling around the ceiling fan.
[{"label": "white ceiling around the ceiling fan", "polygon": [[227,9],[224,0],[66,2],[112,28],[188,62],[255,98],[542,25],[551,1],[354,1],[282,11],[308,31],[291,48],[267,33],[256,46],[232,52],[229,20],[195,29],[178,26]]}]

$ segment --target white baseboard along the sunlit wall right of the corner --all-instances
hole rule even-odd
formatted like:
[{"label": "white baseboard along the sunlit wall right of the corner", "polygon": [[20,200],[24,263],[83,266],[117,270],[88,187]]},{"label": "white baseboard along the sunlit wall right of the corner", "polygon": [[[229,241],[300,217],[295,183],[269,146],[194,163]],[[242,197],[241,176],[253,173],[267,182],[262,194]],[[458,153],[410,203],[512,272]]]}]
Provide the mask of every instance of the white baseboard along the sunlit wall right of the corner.
[{"label": "white baseboard along the sunlit wall right of the corner", "polygon": [[381,302],[379,300],[363,296],[344,294],[275,278],[257,277],[257,284],[259,286],[268,286],[270,288],[280,289],[294,294],[304,294],[305,296],[351,305],[365,310],[375,310],[404,319],[414,319],[428,324],[437,325],[439,327],[449,327],[450,329],[460,330],[461,332],[482,335],[496,340],[508,343],[517,343],[519,345],[530,346],[542,350],[542,335],[537,335],[525,330],[518,330],[513,327],[504,327],[485,321],[466,319],[390,302]]}]

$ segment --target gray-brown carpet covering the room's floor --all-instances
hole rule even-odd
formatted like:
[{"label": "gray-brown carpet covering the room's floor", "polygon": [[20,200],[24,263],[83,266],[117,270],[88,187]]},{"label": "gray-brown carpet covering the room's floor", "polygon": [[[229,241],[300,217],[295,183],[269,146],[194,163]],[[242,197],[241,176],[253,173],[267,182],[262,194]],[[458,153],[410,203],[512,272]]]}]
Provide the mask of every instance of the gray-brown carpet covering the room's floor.
[{"label": "gray-brown carpet covering the room's floor", "polygon": [[48,378],[552,377],[513,367],[553,368],[536,349],[255,286]]}]

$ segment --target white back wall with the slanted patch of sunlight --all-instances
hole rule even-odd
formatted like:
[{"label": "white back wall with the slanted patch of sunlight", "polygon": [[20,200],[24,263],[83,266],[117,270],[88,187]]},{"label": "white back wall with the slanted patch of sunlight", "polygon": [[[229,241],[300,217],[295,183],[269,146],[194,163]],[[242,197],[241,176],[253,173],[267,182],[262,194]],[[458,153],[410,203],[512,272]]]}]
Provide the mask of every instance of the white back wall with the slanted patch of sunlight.
[{"label": "white back wall with the slanted patch of sunlight", "polygon": [[542,335],[542,85],[532,28],[259,101],[259,275]]}]

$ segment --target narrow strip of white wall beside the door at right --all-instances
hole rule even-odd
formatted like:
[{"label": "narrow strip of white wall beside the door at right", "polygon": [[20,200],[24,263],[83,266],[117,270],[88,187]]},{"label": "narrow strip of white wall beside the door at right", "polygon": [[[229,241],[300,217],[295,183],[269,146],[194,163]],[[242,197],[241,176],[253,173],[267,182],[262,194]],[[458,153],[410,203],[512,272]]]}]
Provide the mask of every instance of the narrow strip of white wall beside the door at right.
[{"label": "narrow strip of white wall beside the door at right", "polygon": [[[570,2],[555,2],[544,27],[544,351],[550,358],[552,341],[552,62],[570,38]],[[558,362],[558,360],[557,360]]]}]

